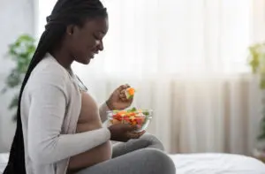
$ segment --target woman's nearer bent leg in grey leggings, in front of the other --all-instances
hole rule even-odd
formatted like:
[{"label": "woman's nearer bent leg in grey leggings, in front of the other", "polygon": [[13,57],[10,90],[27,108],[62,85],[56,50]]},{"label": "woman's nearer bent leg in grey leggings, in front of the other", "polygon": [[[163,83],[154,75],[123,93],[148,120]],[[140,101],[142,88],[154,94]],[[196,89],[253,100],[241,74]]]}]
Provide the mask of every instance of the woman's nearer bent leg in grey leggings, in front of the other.
[{"label": "woman's nearer bent leg in grey leggings, in front of the other", "polygon": [[145,148],[79,171],[77,174],[176,174],[170,157],[161,150]]}]

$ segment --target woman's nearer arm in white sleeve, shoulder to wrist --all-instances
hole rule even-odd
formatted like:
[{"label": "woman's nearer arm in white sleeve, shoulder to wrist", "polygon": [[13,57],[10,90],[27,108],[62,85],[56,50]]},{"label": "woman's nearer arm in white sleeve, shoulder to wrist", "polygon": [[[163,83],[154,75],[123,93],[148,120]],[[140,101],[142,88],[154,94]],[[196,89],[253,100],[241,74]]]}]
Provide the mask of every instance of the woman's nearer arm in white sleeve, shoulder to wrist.
[{"label": "woman's nearer arm in white sleeve, shoulder to wrist", "polygon": [[110,131],[107,128],[61,134],[67,101],[64,79],[40,78],[34,83],[41,84],[30,92],[28,153],[34,163],[56,163],[110,140]]}]

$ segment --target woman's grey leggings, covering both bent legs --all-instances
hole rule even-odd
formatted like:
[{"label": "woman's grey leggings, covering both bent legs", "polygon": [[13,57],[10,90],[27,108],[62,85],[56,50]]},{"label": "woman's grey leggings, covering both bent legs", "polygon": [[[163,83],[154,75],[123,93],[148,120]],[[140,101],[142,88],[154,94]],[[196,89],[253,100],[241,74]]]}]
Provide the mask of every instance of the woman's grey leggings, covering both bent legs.
[{"label": "woman's grey leggings, covering both bent legs", "polygon": [[163,144],[151,134],[113,146],[112,159],[77,174],[176,174],[175,165],[163,153]]}]

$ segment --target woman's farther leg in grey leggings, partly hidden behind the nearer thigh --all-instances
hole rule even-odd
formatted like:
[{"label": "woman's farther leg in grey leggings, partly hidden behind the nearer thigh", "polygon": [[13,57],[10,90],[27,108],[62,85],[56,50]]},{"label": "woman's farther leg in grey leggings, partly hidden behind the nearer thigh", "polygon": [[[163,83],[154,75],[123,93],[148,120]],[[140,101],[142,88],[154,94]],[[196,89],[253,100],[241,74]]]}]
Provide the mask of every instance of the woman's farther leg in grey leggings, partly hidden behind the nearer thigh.
[{"label": "woman's farther leg in grey leggings, partly hidden behind the nearer thigh", "polygon": [[139,150],[142,148],[156,148],[163,150],[163,144],[154,135],[146,133],[140,137],[140,139],[129,140],[127,142],[118,142],[113,145],[112,148],[112,158],[120,155],[125,155],[127,153]]}]

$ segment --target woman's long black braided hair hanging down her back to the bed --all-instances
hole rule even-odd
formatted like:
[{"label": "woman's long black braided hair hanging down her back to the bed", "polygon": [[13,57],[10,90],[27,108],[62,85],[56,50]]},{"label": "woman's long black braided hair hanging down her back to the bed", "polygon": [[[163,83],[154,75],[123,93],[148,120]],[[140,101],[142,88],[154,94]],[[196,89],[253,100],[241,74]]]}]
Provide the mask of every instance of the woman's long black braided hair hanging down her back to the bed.
[{"label": "woman's long black braided hair hanging down her back to the bed", "polygon": [[62,42],[66,26],[70,24],[82,26],[87,18],[97,16],[107,17],[107,11],[99,0],[58,0],[51,15],[47,17],[47,25],[40,42],[34,52],[34,56],[28,66],[26,76],[22,82],[17,110],[17,129],[11,145],[9,162],[4,174],[26,174],[25,149],[20,116],[20,102],[27,80],[34,67],[42,61],[46,53]]}]

